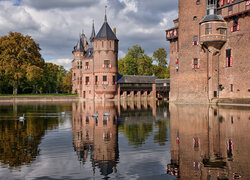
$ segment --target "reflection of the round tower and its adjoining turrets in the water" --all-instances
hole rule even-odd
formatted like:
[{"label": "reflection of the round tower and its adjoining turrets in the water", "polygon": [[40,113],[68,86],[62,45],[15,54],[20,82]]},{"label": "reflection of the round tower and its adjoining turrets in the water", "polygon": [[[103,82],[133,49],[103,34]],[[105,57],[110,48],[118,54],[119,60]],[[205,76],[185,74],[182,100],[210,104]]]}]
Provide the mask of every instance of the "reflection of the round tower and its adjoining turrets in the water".
[{"label": "reflection of the round tower and its adjoining turrets in the water", "polygon": [[[80,161],[90,156],[93,171],[100,168],[107,176],[116,171],[119,158],[117,141],[117,108],[114,102],[79,102],[72,106],[74,148]],[[93,117],[98,114],[98,117]]]}]

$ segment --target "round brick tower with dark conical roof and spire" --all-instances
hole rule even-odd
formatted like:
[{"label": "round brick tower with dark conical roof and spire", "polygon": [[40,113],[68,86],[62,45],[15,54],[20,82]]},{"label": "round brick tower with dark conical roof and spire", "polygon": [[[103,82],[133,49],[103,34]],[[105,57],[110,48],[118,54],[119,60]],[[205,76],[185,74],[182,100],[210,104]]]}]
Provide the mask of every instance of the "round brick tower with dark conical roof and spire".
[{"label": "round brick tower with dark conical roof and spire", "polygon": [[117,92],[118,39],[105,12],[104,23],[94,38],[95,98],[111,99]]}]

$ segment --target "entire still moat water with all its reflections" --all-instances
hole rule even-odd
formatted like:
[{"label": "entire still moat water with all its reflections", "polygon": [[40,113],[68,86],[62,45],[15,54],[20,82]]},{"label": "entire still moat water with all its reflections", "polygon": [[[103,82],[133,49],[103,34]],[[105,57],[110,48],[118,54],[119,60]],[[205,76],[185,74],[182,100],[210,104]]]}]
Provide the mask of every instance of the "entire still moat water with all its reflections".
[{"label": "entire still moat water with all its reflections", "polygon": [[0,104],[0,179],[250,179],[249,130],[248,107]]}]

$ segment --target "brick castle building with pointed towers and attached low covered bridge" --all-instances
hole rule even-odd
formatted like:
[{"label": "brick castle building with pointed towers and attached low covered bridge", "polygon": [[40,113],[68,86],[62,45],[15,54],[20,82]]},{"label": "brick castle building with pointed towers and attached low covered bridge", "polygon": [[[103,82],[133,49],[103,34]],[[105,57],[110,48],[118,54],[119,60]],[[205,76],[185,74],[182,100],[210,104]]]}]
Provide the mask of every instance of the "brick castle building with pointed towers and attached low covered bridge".
[{"label": "brick castle building with pointed towers and attached low covered bridge", "polygon": [[168,97],[169,80],[155,76],[120,75],[116,29],[111,30],[105,13],[104,23],[90,44],[84,33],[74,47],[72,93],[81,99],[164,98]]}]

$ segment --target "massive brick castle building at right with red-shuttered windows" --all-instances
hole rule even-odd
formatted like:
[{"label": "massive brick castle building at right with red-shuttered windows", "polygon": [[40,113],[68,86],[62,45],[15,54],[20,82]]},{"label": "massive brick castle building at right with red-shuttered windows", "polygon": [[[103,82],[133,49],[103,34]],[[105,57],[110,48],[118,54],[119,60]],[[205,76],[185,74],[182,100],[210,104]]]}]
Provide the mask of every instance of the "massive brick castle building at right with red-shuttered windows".
[{"label": "massive brick castle building at right with red-shuttered windows", "polygon": [[179,0],[170,41],[170,101],[250,98],[250,1]]}]

